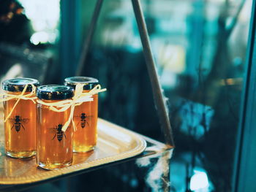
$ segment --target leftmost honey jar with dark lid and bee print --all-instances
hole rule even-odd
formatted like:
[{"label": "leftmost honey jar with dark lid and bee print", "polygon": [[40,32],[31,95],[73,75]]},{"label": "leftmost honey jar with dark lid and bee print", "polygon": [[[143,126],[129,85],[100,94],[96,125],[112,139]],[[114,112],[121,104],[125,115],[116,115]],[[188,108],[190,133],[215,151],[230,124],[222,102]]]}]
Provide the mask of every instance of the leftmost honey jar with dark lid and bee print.
[{"label": "leftmost honey jar with dark lid and bee print", "polygon": [[36,104],[35,101],[29,99],[34,97],[35,93],[27,100],[19,99],[18,101],[18,98],[15,98],[23,92],[26,86],[23,96],[31,94],[32,85],[37,87],[38,80],[15,78],[2,82],[4,93],[14,97],[4,101],[4,118],[7,118],[11,112],[10,117],[4,122],[5,153],[13,158],[28,158],[36,154]]}]

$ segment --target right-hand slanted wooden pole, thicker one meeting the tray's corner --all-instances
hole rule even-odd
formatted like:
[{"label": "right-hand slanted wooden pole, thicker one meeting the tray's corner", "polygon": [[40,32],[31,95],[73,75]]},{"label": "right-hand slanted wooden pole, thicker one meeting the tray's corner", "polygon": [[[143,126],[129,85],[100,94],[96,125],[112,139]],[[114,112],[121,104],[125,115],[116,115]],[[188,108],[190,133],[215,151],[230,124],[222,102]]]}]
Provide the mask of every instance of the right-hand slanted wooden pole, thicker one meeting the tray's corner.
[{"label": "right-hand slanted wooden pole, thicker one meeting the tray's corner", "polygon": [[153,57],[153,53],[151,50],[149,37],[148,37],[148,30],[146,28],[146,22],[143,16],[143,10],[141,8],[140,1],[132,0],[132,7],[135,12],[137,25],[140,32],[140,39],[143,45],[143,53],[146,59],[148,75],[151,80],[151,87],[153,91],[154,102],[157,107],[157,113],[159,116],[159,121],[161,123],[162,131],[165,134],[165,143],[167,145],[174,146],[173,133],[172,133],[172,128],[170,126],[170,119],[168,115],[167,104],[165,101],[165,96],[162,93],[162,88],[157,76],[157,69],[154,62],[154,57]]}]

